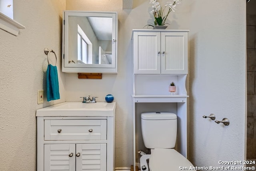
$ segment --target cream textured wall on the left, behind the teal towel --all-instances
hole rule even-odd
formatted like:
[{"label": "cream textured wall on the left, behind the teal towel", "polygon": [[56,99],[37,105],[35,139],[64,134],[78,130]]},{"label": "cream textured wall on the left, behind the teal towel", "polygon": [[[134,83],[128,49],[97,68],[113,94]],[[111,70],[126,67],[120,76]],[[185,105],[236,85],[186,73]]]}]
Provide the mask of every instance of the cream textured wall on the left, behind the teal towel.
[{"label": "cream textured wall on the left, behind the teal towel", "polygon": [[36,109],[65,101],[58,59],[61,99],[37,104],[37,90],[46,89],[44,48],[60,57],[64,8],[63,0],[14,0],[14,20],[26,29],[17,37],[0,30],[0,171],[36,170]]}]

